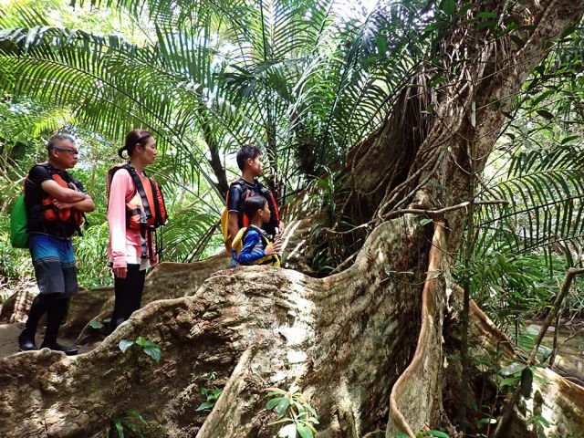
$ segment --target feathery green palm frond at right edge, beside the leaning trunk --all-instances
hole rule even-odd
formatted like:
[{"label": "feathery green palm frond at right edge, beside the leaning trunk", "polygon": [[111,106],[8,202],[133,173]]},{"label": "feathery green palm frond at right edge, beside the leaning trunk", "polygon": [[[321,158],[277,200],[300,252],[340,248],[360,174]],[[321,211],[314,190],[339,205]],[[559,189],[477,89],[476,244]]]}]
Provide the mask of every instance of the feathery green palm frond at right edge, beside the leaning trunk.
[{"label": "feathery green palm frond at right edge, beside the leaning trunk", "polygon": [[[527,252],[580,239],[584,235],[582,160],[580,146],[517,154],[509,165],[509,179],[485,193],[487,199],[495,196],[509,203],[480,210],[478,246],[487,250],[507,245]],[[491,239],[488,245],[487,239]]]}]

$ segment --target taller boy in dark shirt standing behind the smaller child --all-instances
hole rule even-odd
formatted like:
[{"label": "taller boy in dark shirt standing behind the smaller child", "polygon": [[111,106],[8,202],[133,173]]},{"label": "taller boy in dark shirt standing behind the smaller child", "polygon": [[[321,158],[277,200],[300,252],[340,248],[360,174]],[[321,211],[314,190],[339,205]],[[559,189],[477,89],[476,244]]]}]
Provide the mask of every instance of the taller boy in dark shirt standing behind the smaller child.
[{"label": "taller boy in dark shirt standing behind the smaller child", "polygon": [[[229,211],[227,247],[240,228],[249,224],[250,218],[244,213],[245,200],[250,196],[263,196],[270,211],[269,221],[260,227],[270,238],[274,239],[284,231],[284,223],[280,221],[276,199],[256,178],[264,174],[262,153],[253,145],[245,145],[237,152],[237,166],[241,170],[241,177],[231,183],[227,194],[227,210]],[[235,266],[234,266],[235,267]]]}]

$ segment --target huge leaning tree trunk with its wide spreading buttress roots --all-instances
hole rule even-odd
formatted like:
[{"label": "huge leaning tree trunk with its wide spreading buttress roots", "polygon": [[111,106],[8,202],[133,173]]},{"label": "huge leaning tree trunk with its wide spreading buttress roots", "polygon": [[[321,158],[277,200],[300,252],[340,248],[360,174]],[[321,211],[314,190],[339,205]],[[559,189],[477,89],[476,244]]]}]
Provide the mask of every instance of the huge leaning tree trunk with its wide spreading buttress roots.
[{"label": "huge leaning tree trunk with its wide spreading buttress roots", "polygon": [[[484,10],[506,4],[488,3]],[[456,289],[450,255],[460,245],[466,214],[454,210],[423,226],[397,210],[468,201],[474,193],[469,172],[482,171],[509,97],[545,56],[548,42],[584,9],[573,0],[520,3],[526,7],[512,13],[530,26],[522,31],[523,48],[515,53],[506,36],[494,41],[472,25],[456,28],[442,51],[451,55],[444,69],[459,77],[433,94],[425,88],[433,72],[422,71],[397,112],[350,153],[351,190],[342,210],[363,226],[329,230],[328,238],[360,245],[360,233],[369,233],[352,266],[326,278],[287,269],[224,270],[201,287],[213,264],[161,266],[161,275],[151,276],[151,297],[176,298],[151,302],[89,354],[67,358],[43,350],[0,361],[6,394],[0,414],[7,419],[0,433],[91,436],[133,408],[163,425],[156,436],[269,437],[276,429],[263,410],[266,388],[292,383],[317,408],[323,437],[412,437],[440,426],[443,338],[453,338],[443,328],[454,318],[446,305]],[[429,101],[435,116],[422,120]],[[471,150],[480,157],[474,162]],[[315,217],[289,226],[306,230]],[[297,242],[287,250],[300,254],[302,239]],[[300,258],[290,257],[291,263]],[[472,329],[489,349],[494,328],[478,310],[474,314]],[[160,365],[139,351],[118,349],[120,339],[138,336],[162,346]],[[212,371],[224,391],[205,416],[195,407]],[[561,436],[580,436],[581,389],[546,373],[539,391],[547,413]]]}]

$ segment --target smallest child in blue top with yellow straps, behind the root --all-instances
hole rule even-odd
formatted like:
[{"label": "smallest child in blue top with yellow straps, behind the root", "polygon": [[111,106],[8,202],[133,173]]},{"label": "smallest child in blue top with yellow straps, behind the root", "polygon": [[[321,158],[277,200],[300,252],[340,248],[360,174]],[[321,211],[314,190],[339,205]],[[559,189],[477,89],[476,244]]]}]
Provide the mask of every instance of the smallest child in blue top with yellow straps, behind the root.
[{"label": "smallest child in blue top with yellow straps, behind the root", "polygon": [[277,253],[282,247],[279,237],[270,242],[262,225],[270,220],[270,209],[263,196],[250,196],[245,200],[244,213],[250,218],[249,226],[239,230],[233,241],[233,256],[240,265],[280,266]]}]

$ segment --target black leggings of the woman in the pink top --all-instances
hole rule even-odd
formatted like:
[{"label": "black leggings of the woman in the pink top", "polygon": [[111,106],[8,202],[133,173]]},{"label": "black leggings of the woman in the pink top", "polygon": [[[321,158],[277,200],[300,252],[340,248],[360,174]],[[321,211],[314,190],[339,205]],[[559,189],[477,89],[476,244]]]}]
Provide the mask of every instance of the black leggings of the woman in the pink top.
[{"label": "black leggings of the woman in the pink top", "polygon": [[111,314],[110,331],[115,330],[122,322],[130,318],[132,312],[140,308],[144,278],[146,278],[146,269],[140,270],[140,265],[128,265],[125,278],[114,277],[116,301]]}]

